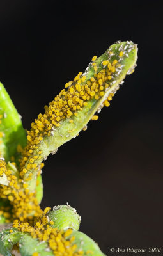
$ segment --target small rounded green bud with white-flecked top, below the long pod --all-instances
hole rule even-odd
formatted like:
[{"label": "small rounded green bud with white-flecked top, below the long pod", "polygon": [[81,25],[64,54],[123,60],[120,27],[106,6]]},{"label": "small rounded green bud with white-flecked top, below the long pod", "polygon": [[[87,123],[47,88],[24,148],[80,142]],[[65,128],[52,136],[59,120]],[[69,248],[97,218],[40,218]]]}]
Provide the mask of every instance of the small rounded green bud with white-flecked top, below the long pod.
[{"label": "small rounded green bud with white-flecked top, below the long pod", "polygon": [[81,222],[81,216],[68,204],[54,206],[53,211],[49,212],[48,217],[49,220],[54,221],[52,227],[59,230],[68,228],[78,230]]}]

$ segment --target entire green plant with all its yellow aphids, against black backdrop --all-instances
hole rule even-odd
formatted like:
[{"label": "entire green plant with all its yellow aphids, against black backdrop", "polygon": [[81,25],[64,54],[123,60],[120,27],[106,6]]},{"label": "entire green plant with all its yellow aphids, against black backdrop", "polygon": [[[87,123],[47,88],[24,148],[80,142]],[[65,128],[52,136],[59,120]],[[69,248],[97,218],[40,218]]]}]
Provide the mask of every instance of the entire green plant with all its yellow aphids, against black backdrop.
[{"label": "entire green plant with all its yellow aphids, against black backdrop", "polygon": [[12,255],[14,247],[26,256],[104,255],[78,231],[81,217],[70,205],[40,208],[42,161],[86,131],[89,120],[98,120],[125,76],[134,72],[136,60],[137,45],[129,41],[93,56],[86,71],[65,84],[27,133],[0,83],[0,223],[12,223],[0,233],[0,253]]}]

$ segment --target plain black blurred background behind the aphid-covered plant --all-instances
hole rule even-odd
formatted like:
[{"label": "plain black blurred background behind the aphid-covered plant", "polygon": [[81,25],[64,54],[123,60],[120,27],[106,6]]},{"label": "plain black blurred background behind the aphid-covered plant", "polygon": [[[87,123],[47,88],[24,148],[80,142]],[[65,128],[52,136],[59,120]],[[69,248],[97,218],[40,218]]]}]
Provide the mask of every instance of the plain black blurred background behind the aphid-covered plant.
[{"label": "plain black blurred background behind the aphid-covered plant", "polygon": [[136,72],[111,106],[45,162],[42,207],[75,207],[81,231],[108,255],[111,247],[161,247],[159,1],[1,0],[0,36],[0,80],[27,129],[94,55],[117,40],[139,45]]}]

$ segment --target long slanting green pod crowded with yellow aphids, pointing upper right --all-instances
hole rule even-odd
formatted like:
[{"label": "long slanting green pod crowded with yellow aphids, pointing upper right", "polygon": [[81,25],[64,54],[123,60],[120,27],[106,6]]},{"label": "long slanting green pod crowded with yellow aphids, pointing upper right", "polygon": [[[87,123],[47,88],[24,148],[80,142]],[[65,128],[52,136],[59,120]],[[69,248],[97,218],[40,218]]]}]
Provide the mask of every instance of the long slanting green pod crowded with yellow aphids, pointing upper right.
[{"label": "long slanting green pod crowded with yellow aphids, pointing upper right", "polygon": [[[109,106],[111,97],[119,89],[127,74],[134,71],[137,60],[137,45],[132,42],[118,42],[111,45],[99,58],[93,58],[84,74],[80,72],[65,85],[65,89],[45,106],[45,114],[38,115],[27,135],[27,147],[33,151],[22,166],[27,169],[24,179],[32,173],[29,189],[36,186],[36,168],[58,147],[75,138],[86,127],[96,111]],[[35,158],[37,157],[37,158]],[[32,164],[31,164],[32,163]]]}]

